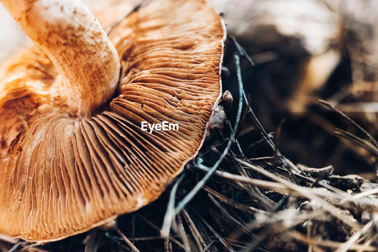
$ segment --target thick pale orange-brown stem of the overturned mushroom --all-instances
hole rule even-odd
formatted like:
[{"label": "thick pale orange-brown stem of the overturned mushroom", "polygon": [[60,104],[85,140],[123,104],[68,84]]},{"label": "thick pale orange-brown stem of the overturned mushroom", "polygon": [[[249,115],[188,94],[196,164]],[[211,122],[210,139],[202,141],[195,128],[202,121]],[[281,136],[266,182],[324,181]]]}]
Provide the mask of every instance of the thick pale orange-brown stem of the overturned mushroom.
[{"label": "thick pale orange-brown stem of the overturned mushroom", "polygon": [[[53,100],[88,116],[112,98],[120,63],[93,13],[77,0],[1,0],[62,76]],[[62,102],[64,101],[64,102]]]}]

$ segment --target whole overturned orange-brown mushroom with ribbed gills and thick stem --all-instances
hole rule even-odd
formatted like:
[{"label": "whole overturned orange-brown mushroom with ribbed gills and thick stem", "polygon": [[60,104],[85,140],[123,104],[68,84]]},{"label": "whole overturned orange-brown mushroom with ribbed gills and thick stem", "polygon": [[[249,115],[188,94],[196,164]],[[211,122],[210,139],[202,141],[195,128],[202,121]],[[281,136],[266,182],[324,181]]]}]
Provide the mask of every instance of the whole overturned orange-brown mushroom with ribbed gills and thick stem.
[{"label": "whole overturned orange-brown mushroom with ribbed gills and thick stem", "polygon": [[[0,82],[0,234],[60,240],[158,198],[220,100],[220,17],[154,0],[107,36],[80,1],[2,3],[37,45]],[[164,121],[178,129],[141,128]]]}]

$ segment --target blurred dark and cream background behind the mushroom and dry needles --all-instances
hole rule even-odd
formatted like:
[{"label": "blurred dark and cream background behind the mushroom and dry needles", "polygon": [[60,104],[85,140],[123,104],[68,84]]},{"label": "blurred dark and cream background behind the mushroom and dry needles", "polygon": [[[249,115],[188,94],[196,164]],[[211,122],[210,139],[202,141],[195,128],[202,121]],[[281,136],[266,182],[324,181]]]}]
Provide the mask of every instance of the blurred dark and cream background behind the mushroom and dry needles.
[{"label": "blurred dark and cream background behind the mushroom and dry needles", "polygon": [[[100,22],[101,9],[124,2],[131,11],[146,1],[84,1]],[[105,3],[106,2],[106,3]],[[339,128],[362,137],[318,100],[335,105],[373,136],[378,135],[378,2],[374,0],[208,0],[222,13],[229,36],[245,48],[254,67],[241,62],[251,106],[268,132],[277,131],[280,151],[294,163],[335,166],[340,175],[375,179],[377,158],[361,142],[347,140]],[[118,13],[115,10],[115,13]],[[120,12],[121,13],[121,12]],[[113,19],[112,19],[113,20]],[[31,44],[0,6],[0,64]],[[231,39],[226,41],[223,89],[237,94]],[[232,117],[233,109],[231,108]],[[345,133],[344,133],[345,136]],[[260,139],[244,121],[240,144]],[[358,138],[356,138],[358,139]],[[264,148],[249,148],[250,158]]]}]

